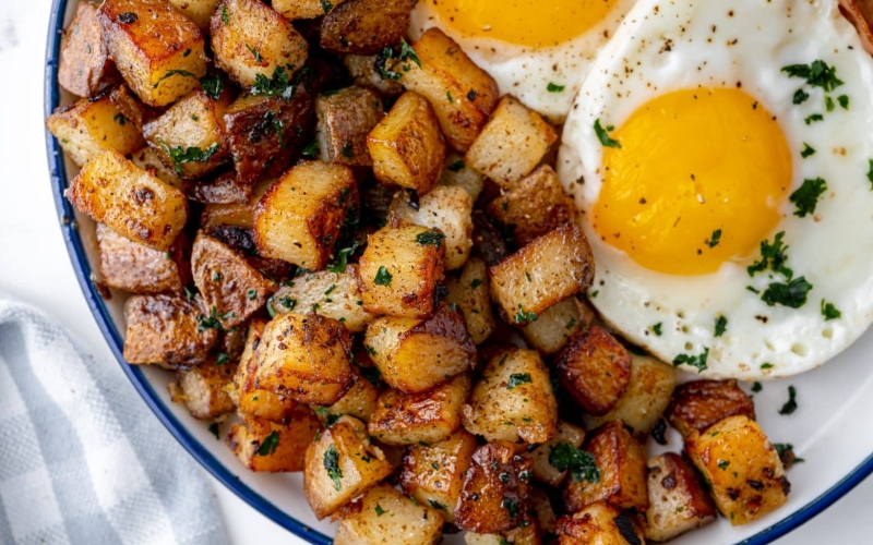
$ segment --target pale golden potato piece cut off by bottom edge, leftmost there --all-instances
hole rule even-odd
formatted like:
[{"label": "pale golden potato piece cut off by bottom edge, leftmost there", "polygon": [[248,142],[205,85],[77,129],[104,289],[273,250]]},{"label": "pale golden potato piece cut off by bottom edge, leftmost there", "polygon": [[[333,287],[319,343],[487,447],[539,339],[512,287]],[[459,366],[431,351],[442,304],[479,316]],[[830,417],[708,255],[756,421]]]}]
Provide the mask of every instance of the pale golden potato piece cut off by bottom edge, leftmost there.
[{"label": "pale golden potato piece cut off by bottom edge, leftmost there", "polygon": [[380,484],[343,514],[335,545],[409,543],[436,545],[443,537],[443,518],[427,504],[415,502],[395,488]]}]

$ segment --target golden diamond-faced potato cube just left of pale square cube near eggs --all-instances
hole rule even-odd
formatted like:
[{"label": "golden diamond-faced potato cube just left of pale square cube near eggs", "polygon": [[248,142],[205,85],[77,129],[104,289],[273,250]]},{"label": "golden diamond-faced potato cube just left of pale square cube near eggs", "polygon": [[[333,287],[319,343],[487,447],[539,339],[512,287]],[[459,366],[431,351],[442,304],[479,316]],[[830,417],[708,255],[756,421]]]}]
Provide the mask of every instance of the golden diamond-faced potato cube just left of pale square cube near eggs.
[{"label": "golden diamond-faced potato cube just left of pale square cube near eggs", "polygon": [[376,180],[388,185],[430,192],[443,170],[445,138],[430,104],[406,92],[367,137]]}]

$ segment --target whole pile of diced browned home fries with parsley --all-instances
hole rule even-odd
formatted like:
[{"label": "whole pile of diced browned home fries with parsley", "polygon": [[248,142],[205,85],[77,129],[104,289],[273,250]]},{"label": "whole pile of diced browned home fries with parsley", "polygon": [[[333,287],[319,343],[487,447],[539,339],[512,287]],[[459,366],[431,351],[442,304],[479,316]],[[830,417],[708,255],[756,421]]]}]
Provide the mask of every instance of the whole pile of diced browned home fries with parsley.
[{"label": "whole pile of diced browned home fries with parsley", "polygon": [[[412,0],[82,1],[48,120],[124,359],[337,544],[641,544],[789,493],[731,380],[598,320],[555,128]],[[128,295],[129,294],[129,295]],[[526,348],[522,348],[526,347]],[[669,422],[684,453],[648,458]]]}]

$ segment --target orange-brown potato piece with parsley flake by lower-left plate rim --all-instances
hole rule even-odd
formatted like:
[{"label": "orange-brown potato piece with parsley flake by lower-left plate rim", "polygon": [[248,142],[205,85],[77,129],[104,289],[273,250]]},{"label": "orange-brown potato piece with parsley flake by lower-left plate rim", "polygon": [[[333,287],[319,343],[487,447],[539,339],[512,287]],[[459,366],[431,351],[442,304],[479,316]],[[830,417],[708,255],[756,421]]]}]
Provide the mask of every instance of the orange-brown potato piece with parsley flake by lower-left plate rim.
[{"label": "orange-brown potato piece with parsley flake by lower-left plate rim", "polygon": [[287,423],[251,417],[244,424],[232,424],[227,444],[252,471],[303,471],[307,447],[320,427],[312,411],[299,405]]}]

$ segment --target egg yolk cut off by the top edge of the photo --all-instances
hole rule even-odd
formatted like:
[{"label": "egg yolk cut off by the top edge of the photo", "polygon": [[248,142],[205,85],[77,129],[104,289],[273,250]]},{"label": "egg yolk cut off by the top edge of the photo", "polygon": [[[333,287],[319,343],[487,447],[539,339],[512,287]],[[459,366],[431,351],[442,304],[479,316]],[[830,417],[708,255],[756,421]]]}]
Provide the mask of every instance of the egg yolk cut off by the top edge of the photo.
[{"label": "egg yolk cut off by the top edge of the photo", "polygon": [[466,37],[551,47],[602,21],[617,0],[427,0],[430,10]]}]

